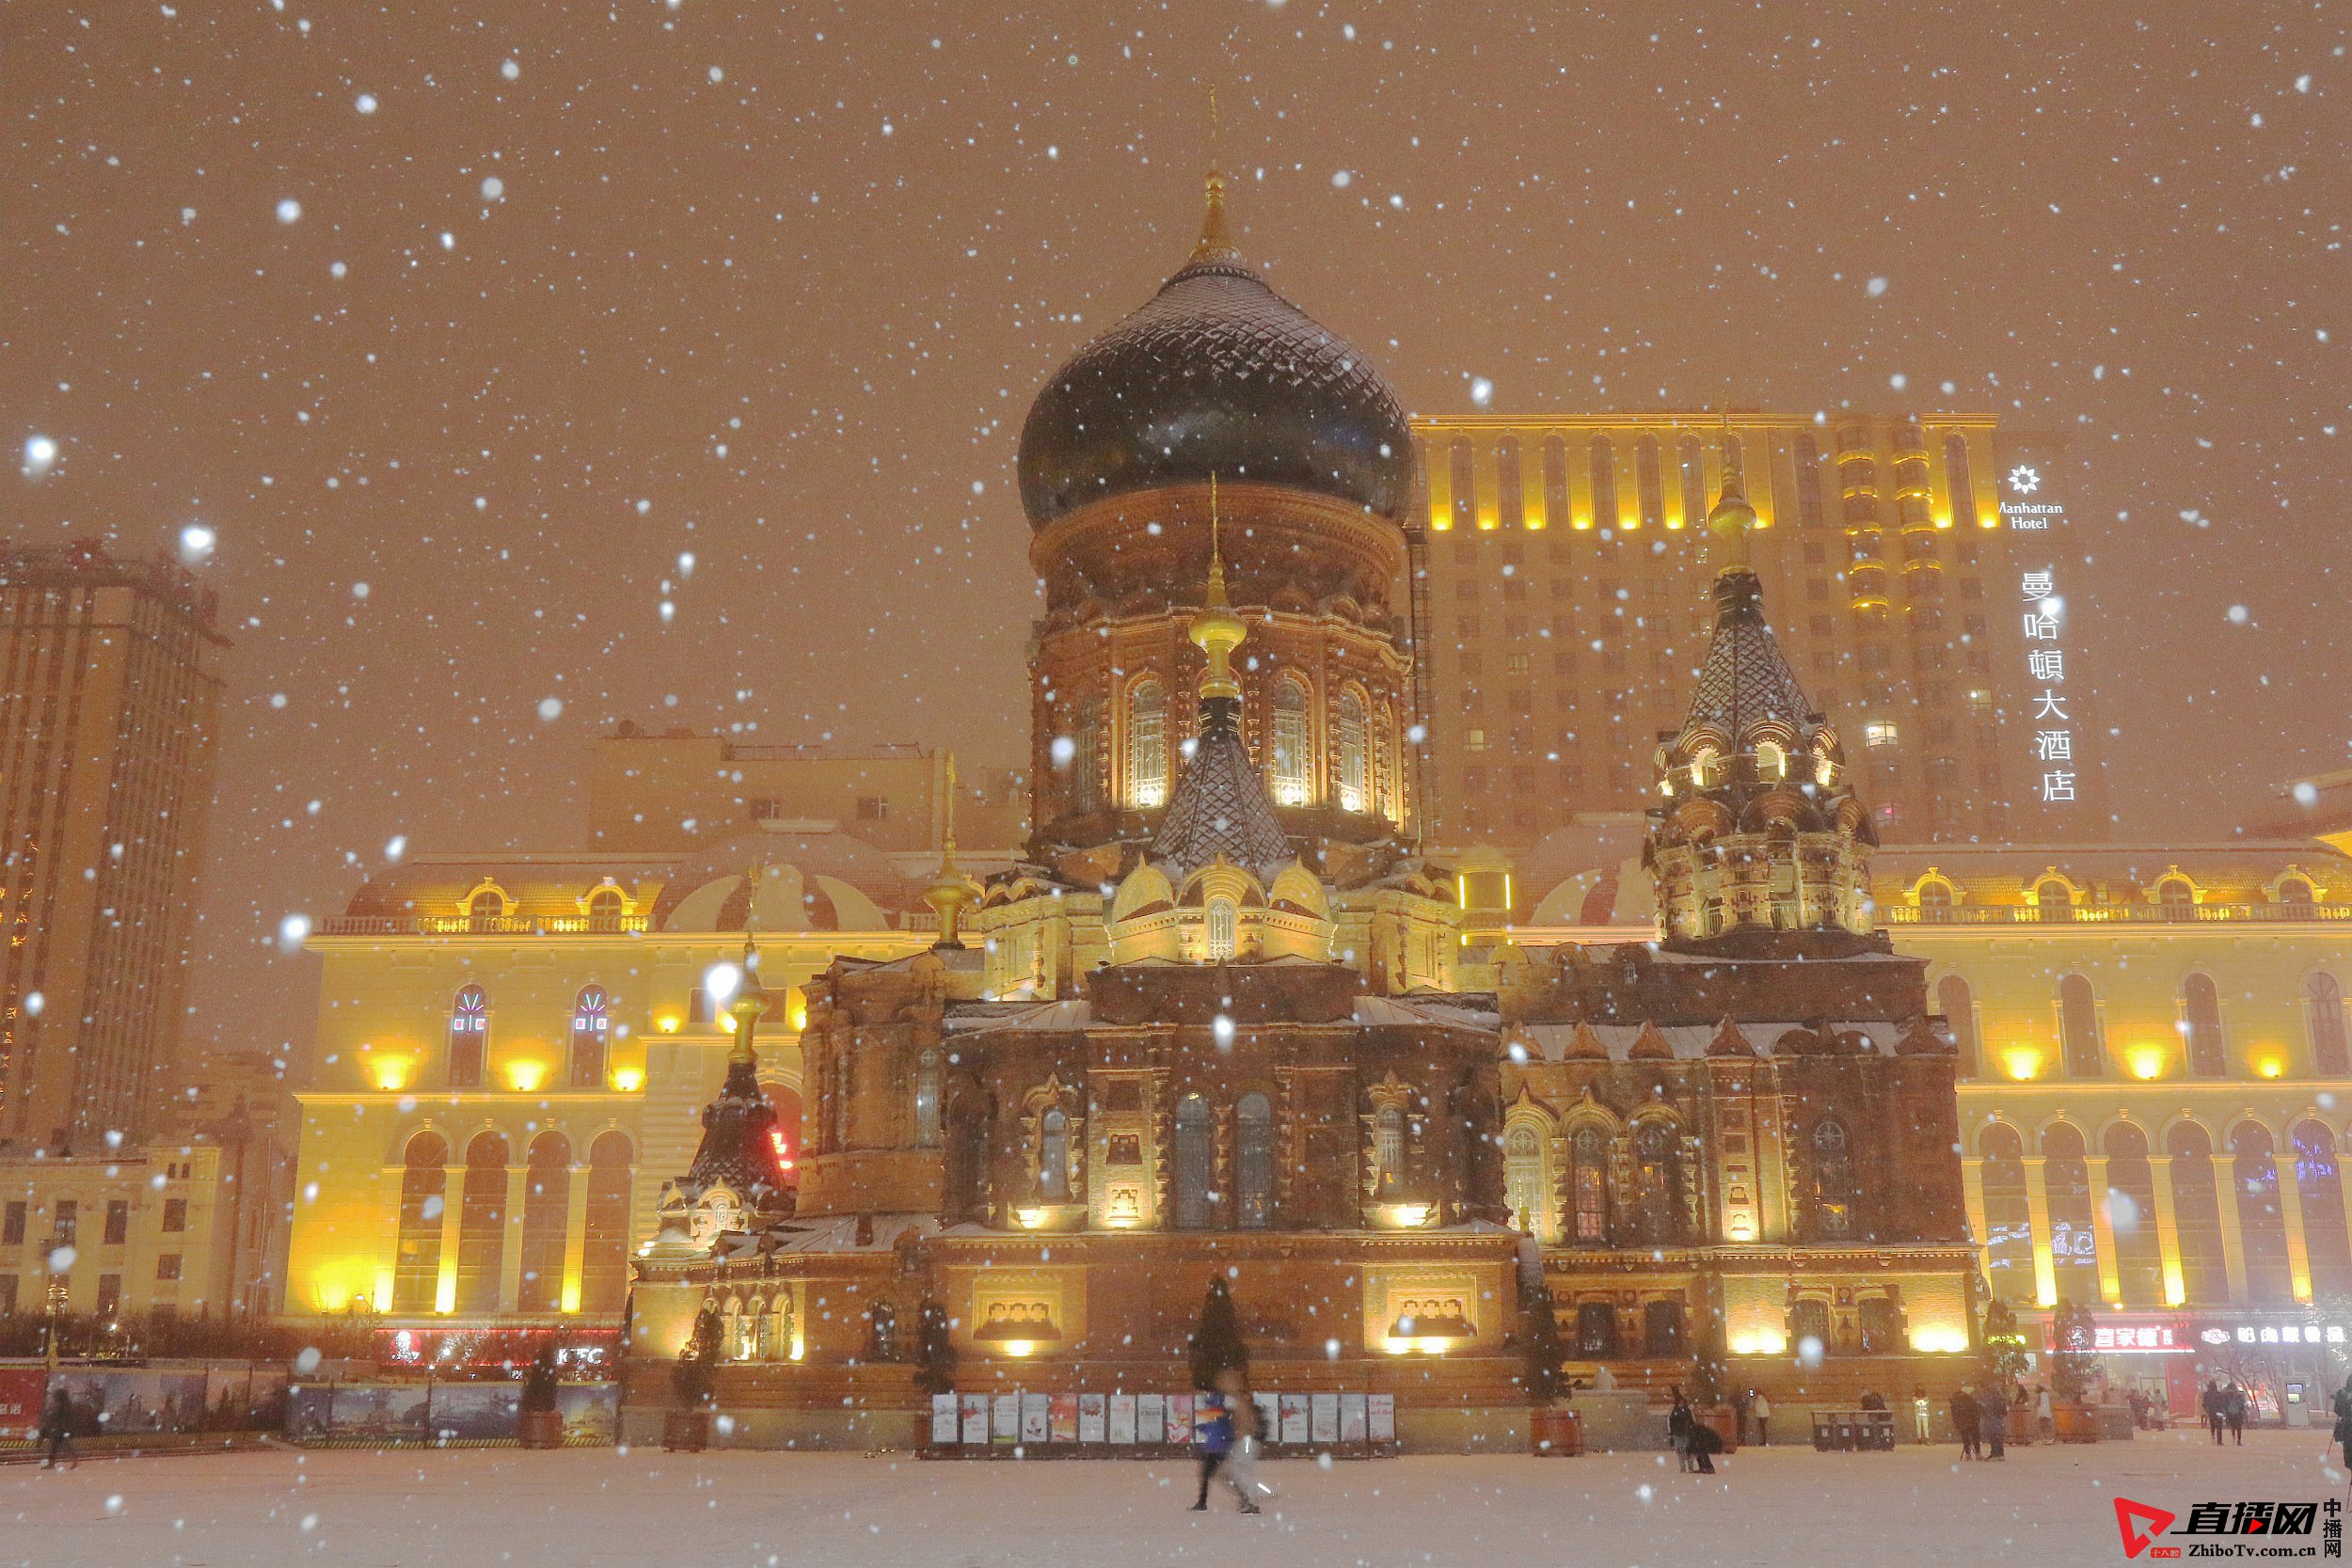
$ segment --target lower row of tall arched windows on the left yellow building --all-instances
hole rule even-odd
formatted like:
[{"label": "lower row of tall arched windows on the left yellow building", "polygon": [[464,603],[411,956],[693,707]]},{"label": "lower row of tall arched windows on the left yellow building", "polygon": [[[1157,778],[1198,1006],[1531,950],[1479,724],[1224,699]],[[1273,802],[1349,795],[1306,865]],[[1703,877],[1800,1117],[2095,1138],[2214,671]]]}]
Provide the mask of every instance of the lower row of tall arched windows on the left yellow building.
[{"label": "lower row of tall arched windows on the left yellow building", "polygon": [[[588,1145],[588,1220],[581,1251],[579,1309],[612,1314],[628,1295],[630,1159],[626,1133]],[[452,1312],[501,1309],[506,1276],[508,1143],[477,1133],[459,1178],[456,1295]],[[407,1143],[400,1175],[400,1239],[393,1258],[393,1312],[437,1312],[442,1213],[449,1201],[449,1140],[421,1131]],[[522,1258],[515,1312],[562,1312],[564,1251],[572,1220],[572,1140],[557,1131],[532,1138],[522,1182]]]}]

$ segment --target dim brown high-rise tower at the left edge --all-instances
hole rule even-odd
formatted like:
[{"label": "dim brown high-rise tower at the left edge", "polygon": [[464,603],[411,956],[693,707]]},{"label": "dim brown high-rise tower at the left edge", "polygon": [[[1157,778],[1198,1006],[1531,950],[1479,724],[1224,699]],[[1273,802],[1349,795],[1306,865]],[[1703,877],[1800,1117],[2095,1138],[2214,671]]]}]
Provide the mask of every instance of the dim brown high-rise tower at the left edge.
[{"label": "dim brown high-rise tower at the left edge", "polygon": [[0,1140],[165,1110],[223,637],[169,559],[0,552]]}]

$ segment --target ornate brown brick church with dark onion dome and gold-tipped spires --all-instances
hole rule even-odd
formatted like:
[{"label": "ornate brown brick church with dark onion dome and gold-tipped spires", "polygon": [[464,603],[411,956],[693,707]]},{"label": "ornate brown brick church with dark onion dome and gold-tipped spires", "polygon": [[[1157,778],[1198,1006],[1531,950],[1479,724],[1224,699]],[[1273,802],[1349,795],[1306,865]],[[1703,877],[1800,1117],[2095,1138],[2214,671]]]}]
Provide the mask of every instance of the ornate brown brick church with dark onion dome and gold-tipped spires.
[{"label": "ornate brown brick church with dark onion dome and gold-tipped spires", "polygon": [[[1526,1312],[1583,1373],[1722,1356],[1792,1401],[1969,1347],[1955,1044],[1870,929],[1872,818],[1762,618],[1752,508],[1715,512],[1717,630],[1656,759],[1675,933],[1465,945],[1388,741],[1392,409],[1232,252],[1214,179],[1192,261],[1040,395],[1028,858],[950,863],[938,945],[802,985],[795,1213],[746,1201],[729,1091],[637,1262],[637,1349],[715,1342],[734,1441],[903,1441],[927,1309],[960,1387],[1188,1387],[1211,1276],[1256,1387],[1392,1392],[1409,1446],[1524,1439]],[[1155,719],[1120,731],[1136,682]]]}]

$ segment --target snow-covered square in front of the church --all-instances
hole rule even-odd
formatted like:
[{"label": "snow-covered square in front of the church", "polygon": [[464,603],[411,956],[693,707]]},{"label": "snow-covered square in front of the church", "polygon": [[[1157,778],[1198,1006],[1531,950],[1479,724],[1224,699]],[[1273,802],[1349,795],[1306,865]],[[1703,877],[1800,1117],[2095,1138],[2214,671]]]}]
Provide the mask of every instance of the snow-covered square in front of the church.
[{"label": "snow-covered square in front of the church", "polygon": [[[0,1467],[0,1563],[485,1568],[1315,1568],[1552,1563],[2122,1563],[2117,1493],[2345,1495],[2321,1432],[2244,1448],[2157,1434],[2096,1448],[1743,1453],[1719,1479],[1646,1455],[1268,1465],[1263,1519],[1188,1514],[1190,1472],[1145,1462],[920,1462],[649,1450],[296,1453]],[[2319,1535],[2310,1537],[2317,1544]],[[2281,1542],[2284,1544],[2284,1542]],[[2140,1559],[2147,1561],[2145,1556]]]}]

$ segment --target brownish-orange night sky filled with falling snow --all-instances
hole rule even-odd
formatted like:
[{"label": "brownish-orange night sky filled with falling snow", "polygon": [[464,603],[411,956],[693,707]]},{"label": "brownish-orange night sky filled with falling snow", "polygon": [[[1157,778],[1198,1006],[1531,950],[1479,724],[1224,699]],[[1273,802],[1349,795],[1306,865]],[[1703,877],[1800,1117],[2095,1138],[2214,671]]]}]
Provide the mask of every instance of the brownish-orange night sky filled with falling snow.
[{"label": "brownish-orange night sky filled with falling snow", "polygon": [[574,842],[616,719],[1018,762],[1014,442],[1211,82],[1411,409],[2067,430],[2119,832],[2345,766],[2343,7],[993,9],[12,7],[7,538],[202,522],[235,623],[191,1044],[308,1032],[278,922],[395,835]]}]

